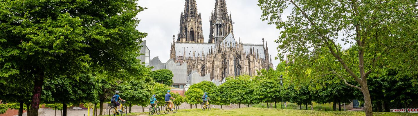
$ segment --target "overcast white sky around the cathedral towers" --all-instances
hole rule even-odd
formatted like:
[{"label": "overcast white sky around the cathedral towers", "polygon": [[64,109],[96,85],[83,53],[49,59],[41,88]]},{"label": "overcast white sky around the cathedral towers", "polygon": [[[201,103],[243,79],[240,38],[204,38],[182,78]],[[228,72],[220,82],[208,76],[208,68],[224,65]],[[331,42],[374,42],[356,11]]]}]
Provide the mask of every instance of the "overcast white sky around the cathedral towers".
[{"label": "overcast white sky around the cathedral towers", "polygon": [[[257,6],[258,0],[226,0],[228,12],[232,14],[234,35],[242,38],[242,43],[261,44],[262,38],[268,43],[273,65],[280,63],[274,60],[277,56],[279,30],[275,25],[268,25],[260,20],[262,11]],[[140,12],[141,20],[137,29],[148,33],[146,44],[150,49],[150,59],[159,57],[164,63],[169,59],[173,35],[177,36],[180,14],[184,11],[185,0],[139,0],[138,5],[148,8]],[[215,7],[215,0],[196,0],[197,12],[202,16],[204,41],[209,40],[209,17]],[[177,38],[177,37],[176,37]]]}]

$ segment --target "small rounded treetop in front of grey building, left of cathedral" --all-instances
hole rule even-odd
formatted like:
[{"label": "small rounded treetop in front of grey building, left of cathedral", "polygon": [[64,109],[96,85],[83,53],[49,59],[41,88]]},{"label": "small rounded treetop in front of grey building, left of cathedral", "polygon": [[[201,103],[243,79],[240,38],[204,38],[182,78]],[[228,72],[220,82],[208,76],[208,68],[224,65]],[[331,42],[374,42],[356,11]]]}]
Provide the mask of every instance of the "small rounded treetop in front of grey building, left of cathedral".
[{"label": "small rounded treetop in front of grey building, left of cathedral", "polygon": [[173,72],[168,69],[160,69],[150,73],[150,76],[154,78],[155,82],[163,83],[164,85],[171,86],[173,84]]}]

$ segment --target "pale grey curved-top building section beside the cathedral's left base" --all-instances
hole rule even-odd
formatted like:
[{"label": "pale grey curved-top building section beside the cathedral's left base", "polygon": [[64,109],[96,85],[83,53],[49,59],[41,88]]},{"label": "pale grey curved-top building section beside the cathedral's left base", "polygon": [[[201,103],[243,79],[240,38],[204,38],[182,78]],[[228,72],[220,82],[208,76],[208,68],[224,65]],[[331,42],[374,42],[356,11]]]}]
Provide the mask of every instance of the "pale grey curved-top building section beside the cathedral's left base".
[{"label": "pale grey curved-top building section beside the cathedral's left base", "polygon": [[173,72],[173,84],[186,85],[188,83],[187,63],[176,64],[173,59],[166,63],[166,68]]}]

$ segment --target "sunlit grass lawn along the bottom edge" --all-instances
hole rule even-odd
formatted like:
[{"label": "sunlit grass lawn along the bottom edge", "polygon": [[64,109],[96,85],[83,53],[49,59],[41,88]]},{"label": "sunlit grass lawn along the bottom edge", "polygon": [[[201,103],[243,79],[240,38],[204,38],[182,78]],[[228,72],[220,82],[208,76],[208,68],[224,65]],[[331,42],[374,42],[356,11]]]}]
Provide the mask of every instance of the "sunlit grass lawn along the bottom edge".
[{"label": "sunlit grass lawn along the bottom edge", "polygon": [[[163,113],[161,111],[161,113]],[[374,112],[374,116],[418,116],[418,113]],[[274,108],[237,108],[232,110],[212,109],[182,109],[177,113],[160,114],[163,116],[364,116],[359,111],[308,111],[286,110]]]}]

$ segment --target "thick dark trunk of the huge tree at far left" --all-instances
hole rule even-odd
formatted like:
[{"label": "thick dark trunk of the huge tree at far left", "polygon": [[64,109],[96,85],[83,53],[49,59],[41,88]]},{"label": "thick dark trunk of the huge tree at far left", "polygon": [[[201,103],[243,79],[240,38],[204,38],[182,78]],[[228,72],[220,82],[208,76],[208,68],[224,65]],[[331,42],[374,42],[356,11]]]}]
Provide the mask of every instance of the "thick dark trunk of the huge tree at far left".
[{"label": "thick dark trunk of the huge tree at far left", "polygon": [[43,73],[38,73],[35,77],[33,86],[33,95],[31,109],[28,111],[28,116],[38,116],[39,103],[41,102],[41,92],[43,86]]}]

